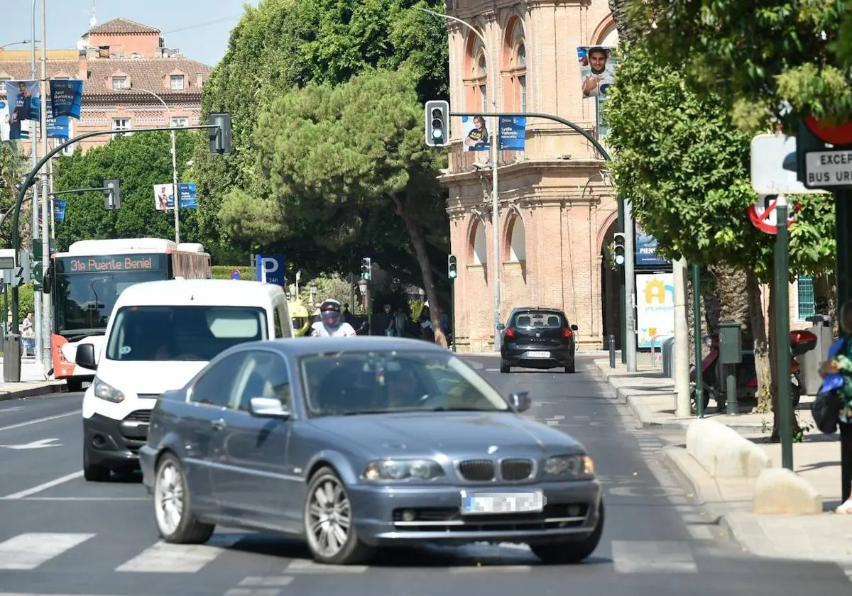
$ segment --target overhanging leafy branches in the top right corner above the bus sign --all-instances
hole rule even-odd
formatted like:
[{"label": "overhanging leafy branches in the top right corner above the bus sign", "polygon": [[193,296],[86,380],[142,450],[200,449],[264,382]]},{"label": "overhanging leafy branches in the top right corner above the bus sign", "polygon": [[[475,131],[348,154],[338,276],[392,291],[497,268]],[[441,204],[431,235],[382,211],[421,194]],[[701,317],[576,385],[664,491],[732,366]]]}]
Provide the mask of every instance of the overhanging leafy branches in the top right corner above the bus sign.
[{"label": "overhanging leafy branches in the top right corner above the bus sign", "polygon": [[852,116],[850,71],[841,63],[852,42],[838,35],[844,18],[852,27],[846,0],[622,3],[627,28],[682,65],[704,95],[731,106],[742,129],[763,130],[775,120],[795,130],[807,115]]}]

